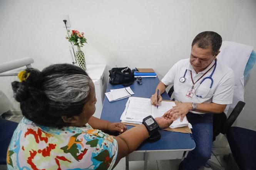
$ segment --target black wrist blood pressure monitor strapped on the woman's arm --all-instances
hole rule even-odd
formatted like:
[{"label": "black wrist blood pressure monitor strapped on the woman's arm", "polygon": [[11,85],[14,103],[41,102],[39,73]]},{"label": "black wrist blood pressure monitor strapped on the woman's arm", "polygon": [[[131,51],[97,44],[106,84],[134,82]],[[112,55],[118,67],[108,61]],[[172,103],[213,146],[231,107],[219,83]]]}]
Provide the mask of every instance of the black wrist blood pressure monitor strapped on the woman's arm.
[{"label": "black wrist blood pressure monitor strapped on the woman's arm", "polygon": [[152,116],[147,116],[142,120],[142,124],[144,124],[149,132],[149,142],[156,142],[161,138],[161,134],[158,132],[159,126],[156,120]]}]

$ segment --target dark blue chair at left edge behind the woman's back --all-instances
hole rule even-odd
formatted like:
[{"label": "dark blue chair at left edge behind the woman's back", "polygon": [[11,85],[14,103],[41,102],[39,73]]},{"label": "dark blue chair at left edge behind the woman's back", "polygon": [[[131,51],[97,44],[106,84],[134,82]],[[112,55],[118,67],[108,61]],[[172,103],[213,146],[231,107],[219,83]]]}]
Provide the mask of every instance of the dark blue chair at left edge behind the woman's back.
[{"label": "dark blue chair at left edge behind the woman's back", "polygon": [[18,123],[0,118],[0,165],[6,165],[7,149]]}]

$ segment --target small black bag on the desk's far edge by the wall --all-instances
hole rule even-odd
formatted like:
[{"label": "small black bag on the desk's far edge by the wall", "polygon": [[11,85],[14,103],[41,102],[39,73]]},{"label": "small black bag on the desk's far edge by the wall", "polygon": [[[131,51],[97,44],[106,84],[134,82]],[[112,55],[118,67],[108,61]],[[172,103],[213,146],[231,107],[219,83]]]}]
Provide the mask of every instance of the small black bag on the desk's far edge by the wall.
[{"label": "small black bag on the desk's far edge by the wall", "polygon": [[135,80],[134,70],[127,67],[112,68],[109,70],[109,83],[112,85],[122,84],[123,86],[129,86]]}]

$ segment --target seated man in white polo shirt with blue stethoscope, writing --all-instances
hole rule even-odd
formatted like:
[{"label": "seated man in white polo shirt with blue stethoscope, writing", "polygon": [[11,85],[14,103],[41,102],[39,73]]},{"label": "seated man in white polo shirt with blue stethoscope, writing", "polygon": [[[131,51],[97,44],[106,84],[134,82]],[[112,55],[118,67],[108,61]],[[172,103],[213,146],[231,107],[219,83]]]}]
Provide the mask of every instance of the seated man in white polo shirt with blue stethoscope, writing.
[{"label": "seated man in white polo shirt with blue stethoscope, writing", "polygon": [[158,105],[162,97],[157,97],[157,89],[162,94],[174,84],[174,99],[178,103],[167,113],[174,119],[186,116],[192,124],[196,148],[181,162],[181,170],[196,170],[211,157],[212,114],[223,112],[232,103],[234,73],[217,60],[221,43],[218,33],[199,33],[192,41],[190,58],[174,64],[151,96],[151,103]]}]

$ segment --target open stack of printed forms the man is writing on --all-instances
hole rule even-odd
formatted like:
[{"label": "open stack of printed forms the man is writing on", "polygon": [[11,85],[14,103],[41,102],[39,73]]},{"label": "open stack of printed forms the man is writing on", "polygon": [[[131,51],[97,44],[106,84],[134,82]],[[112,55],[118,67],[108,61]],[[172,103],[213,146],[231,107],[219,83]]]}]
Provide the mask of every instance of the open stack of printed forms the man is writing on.
[{"label": "open stack of printed forms the man is writing on", "polygon": [[[175,106],[174,102],[162,101],[158,109],[156,106],[151,104],[150,99],[142,98],[142,97],[129,97],[126,102],[124,112],[120,117],[120,120],[125,123],[132,124],[142,124],[142,120],[147,116],[152,117],[161,117],[166,111],[169,111],[173,106]],[[189,126],[192,128],[192,125],[187,121],[187,117],[185,116],[181,122],[181,117],[170,125],[170,128],[184,127]]]}]

